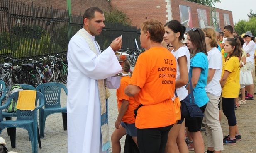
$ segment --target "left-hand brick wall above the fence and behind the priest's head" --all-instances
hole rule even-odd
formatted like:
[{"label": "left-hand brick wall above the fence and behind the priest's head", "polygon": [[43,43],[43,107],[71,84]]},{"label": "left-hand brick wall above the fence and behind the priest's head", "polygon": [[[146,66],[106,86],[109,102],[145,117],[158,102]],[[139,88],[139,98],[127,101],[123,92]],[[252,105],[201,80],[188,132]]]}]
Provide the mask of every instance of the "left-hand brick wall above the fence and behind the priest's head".
[{"label": "left-hand brick wall above the fence and behind the priest's head", "polygon": [[[53,7],[66,10],[67,1],[66,0],[12,0],[19,3],[31,4],[43,6],[43,7]],[[88,7],[97,6],[102,10],[109,10],[110,1],[108,0],[71,0],[71,14],[80,15],[85,12]]]}]

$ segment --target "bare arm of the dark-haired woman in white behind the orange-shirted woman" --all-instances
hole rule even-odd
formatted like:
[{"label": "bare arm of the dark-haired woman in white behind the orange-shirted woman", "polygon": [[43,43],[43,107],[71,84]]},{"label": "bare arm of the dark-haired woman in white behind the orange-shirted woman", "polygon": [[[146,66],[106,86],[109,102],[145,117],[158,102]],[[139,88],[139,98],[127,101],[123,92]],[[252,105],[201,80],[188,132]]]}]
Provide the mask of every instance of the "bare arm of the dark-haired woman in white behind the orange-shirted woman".
[{"label": "bare arm of the dark-haired woman in white behind the orange-shirted woman", "polygon": [[175,88],[180,88],[188,83],[188,67],[187,57],[184,55],[178,58],[178,64],[180,69],[180,79],[175,81]]}]

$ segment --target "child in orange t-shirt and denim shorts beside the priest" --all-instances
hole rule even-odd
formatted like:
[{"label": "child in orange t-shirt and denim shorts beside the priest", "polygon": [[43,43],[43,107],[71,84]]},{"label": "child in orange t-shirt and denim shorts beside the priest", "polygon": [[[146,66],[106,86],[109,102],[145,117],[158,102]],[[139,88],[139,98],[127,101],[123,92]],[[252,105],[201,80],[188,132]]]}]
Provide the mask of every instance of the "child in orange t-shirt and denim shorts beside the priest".
[{"label": "child in orange t-shirt and denim shorts beside the priest", "polygon": [[[128,61],[124,62],[122,73],[131,73],[130,64]],[[117,108],[118,116],[115,122],[115,131],[111,136],[112,153],[120,153],[121,145],[120,139],[125,135],[129,134],[137,144],[137,128],[135,127],[134,118],[134,98],[129,97],[124,93],[124,88],[128,85],[130,76],[124,76],[121,78],[120,87],[117,89]]]}]

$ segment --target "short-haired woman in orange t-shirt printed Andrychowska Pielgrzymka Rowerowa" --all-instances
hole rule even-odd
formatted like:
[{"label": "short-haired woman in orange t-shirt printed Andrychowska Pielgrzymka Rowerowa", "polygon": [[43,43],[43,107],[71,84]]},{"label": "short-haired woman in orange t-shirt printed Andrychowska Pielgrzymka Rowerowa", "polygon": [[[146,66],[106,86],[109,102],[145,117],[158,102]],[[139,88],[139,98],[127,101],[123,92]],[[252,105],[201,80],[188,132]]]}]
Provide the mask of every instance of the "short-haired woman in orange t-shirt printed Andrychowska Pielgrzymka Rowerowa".
[{"label": "short-haired woman in orange t-shirt printed Andrychowska Pielgrzymka Rowerowa", "polygon": [[124,90],[135,98],[140,153],[164,153],[168,133],[176,123],[172,98],[177,65],[173,54],[161,46],[164,33],[163,24],[156,19],[142,23],[140,42],[146,51],[139,55]]}]

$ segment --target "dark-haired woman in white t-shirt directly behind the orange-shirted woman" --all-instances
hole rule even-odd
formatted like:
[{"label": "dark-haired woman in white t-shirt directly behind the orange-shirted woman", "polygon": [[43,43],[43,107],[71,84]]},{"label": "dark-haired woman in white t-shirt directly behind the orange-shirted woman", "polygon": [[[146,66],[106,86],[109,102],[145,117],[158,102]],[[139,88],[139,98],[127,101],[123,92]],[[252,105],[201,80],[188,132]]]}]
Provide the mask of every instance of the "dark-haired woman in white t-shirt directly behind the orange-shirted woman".
[{"label": "dark-haired woman in white t-shirt directly behind the orange-shirted woman", "polygon": [[[165,24],[166,32],[163,36],[164,41],[166,41],[167,44],[172,44],[173,46],[171,53],[175,56],[177,63],[175,88],[180,101],[189,101],[188,90],[185,88],[185,85],[188,83],[190,53],[187,46],[182,44],[185,30],[186,27],[181,25],[179,21],[171,20]],[[171,128],[166,144],[167,153],[188,152],[187,144],[184,141],[185,122],[183,121],[184,118],[179,120],[178,123]]]}]

